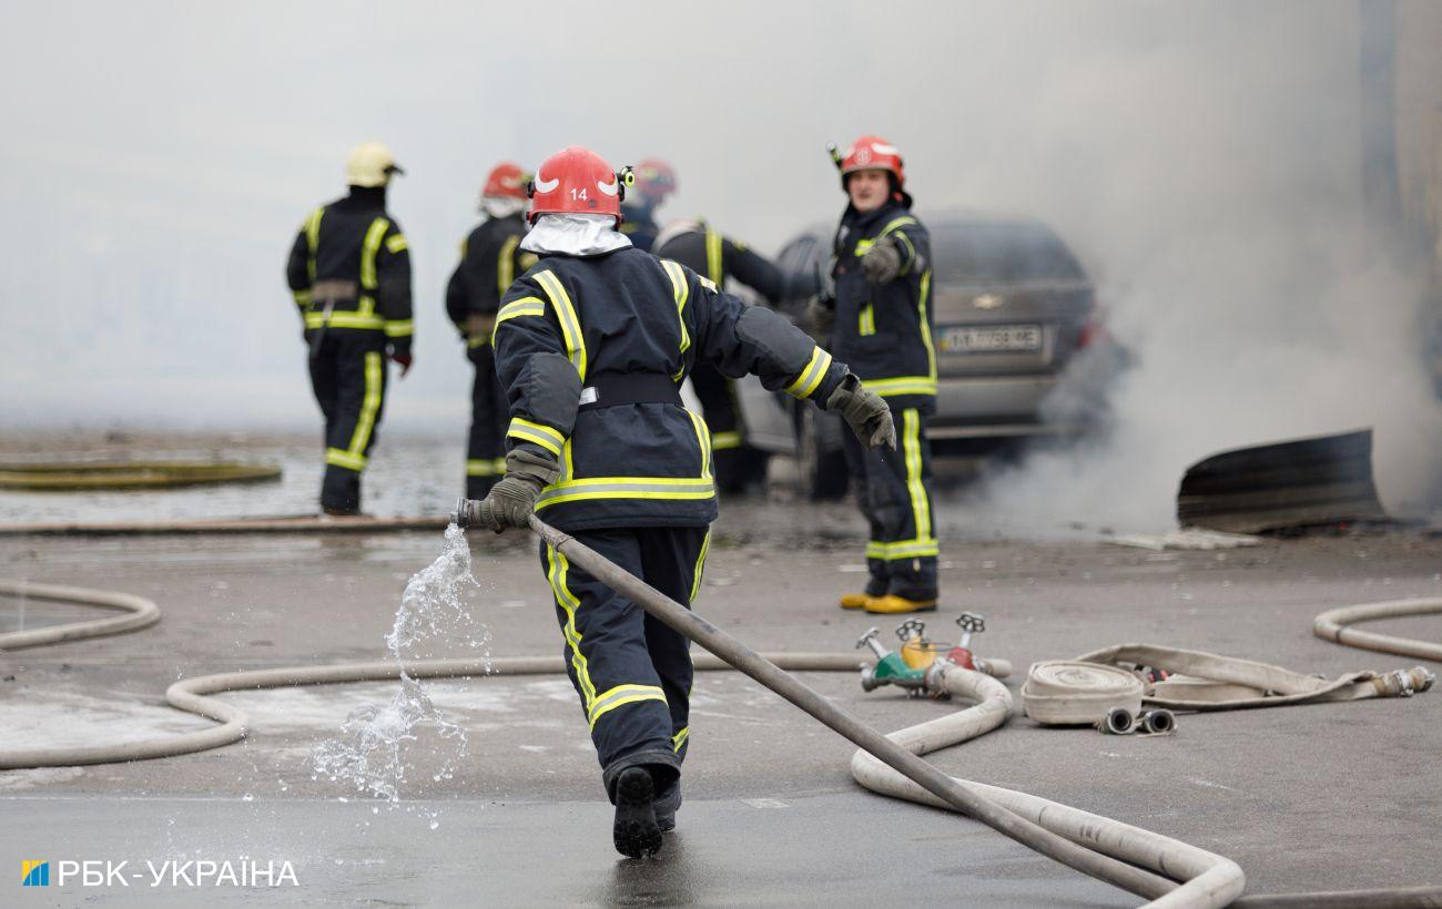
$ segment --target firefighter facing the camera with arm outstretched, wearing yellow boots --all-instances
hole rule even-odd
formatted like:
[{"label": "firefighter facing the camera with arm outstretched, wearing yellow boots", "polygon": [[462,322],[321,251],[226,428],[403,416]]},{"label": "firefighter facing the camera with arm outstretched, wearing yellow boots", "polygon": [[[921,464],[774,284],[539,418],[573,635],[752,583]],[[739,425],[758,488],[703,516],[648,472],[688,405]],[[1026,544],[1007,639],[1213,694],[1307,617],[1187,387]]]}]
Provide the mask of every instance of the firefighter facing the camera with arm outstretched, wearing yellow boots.
[{"label": "firefighter facing the camera with arm outstretched, wearing yellow boots", "polygon": [[862,135],[835,156],[848,206],[833,243],[835,295],[820,300],[818,328],[836,356],[885,399],[897,451],[864,451],[846,439],[846,462],[871,529],[865,591],[844,609],[901,614],[936,609],[937,540],[932,520],[932,449],[926,421],[936,402],[932,346],[932,248],[911,215],[901,153]]}]

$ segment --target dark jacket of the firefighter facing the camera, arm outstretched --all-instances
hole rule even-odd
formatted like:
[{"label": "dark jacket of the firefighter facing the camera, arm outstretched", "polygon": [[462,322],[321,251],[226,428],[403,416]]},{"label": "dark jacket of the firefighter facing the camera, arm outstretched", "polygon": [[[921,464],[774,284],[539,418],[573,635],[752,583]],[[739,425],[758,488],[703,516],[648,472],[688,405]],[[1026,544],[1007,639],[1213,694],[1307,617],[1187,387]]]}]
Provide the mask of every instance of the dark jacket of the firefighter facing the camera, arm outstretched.
[{"label": "dark jacket of the firefighter facing the camera, arm outstretched", "polygon": [[[894,238],[901,272],[871,284],[861,268],[867,251]],[[846,206],[835,239],[836,327],[832,347],[861,383],[893,411],[936,400],[936,349],[932,344],[932,243],[911,212],[895,202],[865,215]]]}]

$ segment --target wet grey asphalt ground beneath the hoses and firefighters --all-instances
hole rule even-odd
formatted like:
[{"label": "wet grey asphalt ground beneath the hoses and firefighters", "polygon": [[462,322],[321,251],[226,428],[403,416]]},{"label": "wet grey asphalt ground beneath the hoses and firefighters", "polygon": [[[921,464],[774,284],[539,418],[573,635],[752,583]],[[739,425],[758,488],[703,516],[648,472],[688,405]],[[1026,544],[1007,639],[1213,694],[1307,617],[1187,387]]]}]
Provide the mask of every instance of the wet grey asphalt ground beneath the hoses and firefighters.
[{"label": "wet grey asphalt ground beneath the hoses and firefighters", "polygon": [[[978,653],[1021,671],[1123,641],[1152,641],[1335,676],[1415,660],[1309,634],[1321,609],[1442,595],[1442,540],[1417,530],[1266,540],[1221,552],[1149,552],[1086,532],[1005,540],[943,524],[947,637],[983,612]],[[859,523],[845,507],[738,504],[717,527],[696,608],[757,650],[849,651],[871,624],[836,594],[861,581]],[[425,654],[470,655],[483,624],[495,655],[561,647],[523,537],[473,534],[470,621]],[[6,743],[82,743],[200,729],[163,703],[196,674],[376,660],[407,578],[440,534],[3,539],[0,576],[121,589],[156,599],[153,628],[0,654]],[[0,631],[87,615],[0,598]],[[1442,619],[1377,630],[1442,640]],[[1442,667],[1432,667],[1433,670]],[[805,680],[883,727],[945,704],[862,693],[851,674]],[[1019,679],[1011,680],[1014,691]],[[408,746],[398,805],[313,778],[310,755],[348,713],[389,699],[371,683],[222,696],[251,736],[213,752],[131,765],[0,772],[6,860],[291,861],[296,886],[16,889],[7,905],[874,905],[1120,906],[1084,880],[972,821],[861,791],[851,748],[731,673],[698,677],[686,805],[650,861],[619,859],[585,725],[561,679],[433,683],[467,732],[450,779],[441,743]],[[1239,861],[1249,892],[1442,883],[1442,691],[1407,700],[1181,717],[1165,739],[1041,729],[1025,719],[932,759],[959,776],[1116,817]],[[58,869],[58,864],[55,864]],[[193,872],[192,872],[193,876]],[[149,883],[141,880],[141,885]],[[13,886],[19,887],[16,882]]]}]

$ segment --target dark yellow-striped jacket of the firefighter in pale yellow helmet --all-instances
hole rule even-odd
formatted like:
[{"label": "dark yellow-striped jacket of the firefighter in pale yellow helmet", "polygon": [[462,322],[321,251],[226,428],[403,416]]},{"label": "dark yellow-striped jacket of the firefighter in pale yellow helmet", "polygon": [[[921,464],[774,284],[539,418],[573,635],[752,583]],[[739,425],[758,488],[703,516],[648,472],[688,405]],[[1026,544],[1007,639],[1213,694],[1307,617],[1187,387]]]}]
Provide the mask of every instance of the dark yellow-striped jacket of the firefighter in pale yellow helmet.
[{"label": "dark yellow-striped jacket of the firefighter in pale yellow helmet", "polygon": [[410,354],[411,254],[385,210],[385,187],[352,186],[345,199],[311,212],[290,249],[286,279],[306,328],[381,331],[392,353]]}]

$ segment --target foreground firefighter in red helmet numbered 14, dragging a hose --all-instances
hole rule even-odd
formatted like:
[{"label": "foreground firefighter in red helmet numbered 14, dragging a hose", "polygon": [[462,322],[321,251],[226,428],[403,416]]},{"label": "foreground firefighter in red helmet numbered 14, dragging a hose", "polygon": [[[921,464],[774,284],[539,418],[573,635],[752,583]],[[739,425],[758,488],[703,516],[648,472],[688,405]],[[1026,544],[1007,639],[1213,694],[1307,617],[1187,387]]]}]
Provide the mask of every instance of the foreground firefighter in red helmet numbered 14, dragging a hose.
[{"label": "foreground firefighter in red helmet numbered 14, dragging a hose", "polygon": [[[864,448],[894,447],[895,434],[885,402],[789,321],[636,249],[616,229],[627,179],[581,147],[536,170],[521,245],[541,261],[502,298],[493,337],[510,402],[506,475],[457,519],[499,533],[539,514],[689,605],[717,517],[709,435],[681,403],[696,363],[839,412]],[[616,805],[616,848],[656,853],[691,739],[688,641],[561,552],[542,547],[541,568]]]}]

